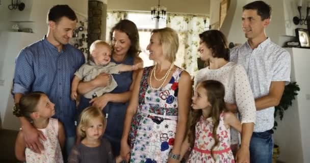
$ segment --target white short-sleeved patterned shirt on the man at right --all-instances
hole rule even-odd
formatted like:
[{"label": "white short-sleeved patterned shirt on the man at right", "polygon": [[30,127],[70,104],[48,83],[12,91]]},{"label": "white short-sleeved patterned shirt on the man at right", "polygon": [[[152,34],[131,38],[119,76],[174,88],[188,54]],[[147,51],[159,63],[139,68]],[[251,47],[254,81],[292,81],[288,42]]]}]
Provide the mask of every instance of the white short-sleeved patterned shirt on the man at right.
[{"label": "white short-sleeved patterned shirt on the man at right", "polygon": [[[271,82],[290,82],[291,57],[268,38],[252,49],[248,42],[230,50],[230,61],[244,66],[254,98],[269,94]],[[256,112],[254,132],[263,132],[274,125],[274,106]]]}]

